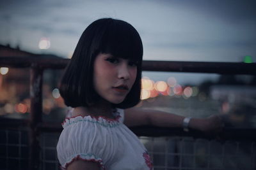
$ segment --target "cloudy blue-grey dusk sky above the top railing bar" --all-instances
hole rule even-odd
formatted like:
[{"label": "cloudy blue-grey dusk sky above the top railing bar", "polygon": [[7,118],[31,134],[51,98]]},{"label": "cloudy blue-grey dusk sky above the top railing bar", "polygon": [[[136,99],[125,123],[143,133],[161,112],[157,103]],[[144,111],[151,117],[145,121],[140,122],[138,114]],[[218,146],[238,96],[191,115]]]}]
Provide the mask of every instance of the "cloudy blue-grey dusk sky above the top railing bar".
[{"label": "cloudy blue-grey dusk sky above the top railing bar", "polygon": [[[68,57],[98,18],[132,24],[145,60],[241,62],[256,60],[256,3],[237,0],[0,1],[0,44]],[[41,38],[51,47],[40,50]]]}]

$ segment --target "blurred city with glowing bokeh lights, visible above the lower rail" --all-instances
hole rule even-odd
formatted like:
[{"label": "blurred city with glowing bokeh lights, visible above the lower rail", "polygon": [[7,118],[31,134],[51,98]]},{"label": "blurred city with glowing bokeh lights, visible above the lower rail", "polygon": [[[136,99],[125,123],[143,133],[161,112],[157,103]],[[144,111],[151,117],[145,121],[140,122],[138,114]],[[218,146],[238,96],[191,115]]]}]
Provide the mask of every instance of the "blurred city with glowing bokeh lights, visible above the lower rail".
[{"label": "blurred city with glowing bokeh lights, visible above the lower rail", "polygon": [[[43,39],[43,41],[46,41]],[[44,46],[43,46],[44,45]],[[42,44],[46,48],[47,42]],[[0,57],[39,57],[8,45],[0,45]],[[44,55],[56,57],[56,55]],[[253,62],[244,57],[242,62]],[[43,121],[61,122],[68,112],[58,86],[63,69],[47,69],[43,82]],[[198,85],[180,84],[177,78],[141,80],[141,103],[137,107],[154,108],[179,115],[207,117],[221,113],[227,124],[256,127],[256,76],[220,75],[217,81],[205,80]],[[0,117],[29,118],[29,69],[0,68]]]}]

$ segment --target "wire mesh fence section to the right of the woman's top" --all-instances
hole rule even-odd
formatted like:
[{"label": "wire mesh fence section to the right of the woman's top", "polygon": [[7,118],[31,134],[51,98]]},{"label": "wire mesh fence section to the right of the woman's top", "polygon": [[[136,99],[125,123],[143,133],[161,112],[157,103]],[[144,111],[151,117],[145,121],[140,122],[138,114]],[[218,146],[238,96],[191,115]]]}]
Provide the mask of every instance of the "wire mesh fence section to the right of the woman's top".
[{"label": "wire mesh fence section to the right of the woman's top", "polygon": [[155,170],[255,169],[255,141],[216,141],[181,137],[141,141],[150,153]]}]

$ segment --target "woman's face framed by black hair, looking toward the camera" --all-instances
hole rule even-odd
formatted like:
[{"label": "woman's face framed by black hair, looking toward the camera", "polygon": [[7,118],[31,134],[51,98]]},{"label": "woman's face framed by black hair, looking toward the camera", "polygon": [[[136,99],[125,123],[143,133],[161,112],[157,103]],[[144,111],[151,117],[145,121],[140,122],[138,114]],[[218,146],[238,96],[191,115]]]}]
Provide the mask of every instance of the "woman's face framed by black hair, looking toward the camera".
[{"label": "woman's face framed by black hair, looking toward the camera", "polygon": [[97,94],[110,103],[122,103],[136,80],[136,62],[109,53],[99,53],[93,67],[93,83]]}]

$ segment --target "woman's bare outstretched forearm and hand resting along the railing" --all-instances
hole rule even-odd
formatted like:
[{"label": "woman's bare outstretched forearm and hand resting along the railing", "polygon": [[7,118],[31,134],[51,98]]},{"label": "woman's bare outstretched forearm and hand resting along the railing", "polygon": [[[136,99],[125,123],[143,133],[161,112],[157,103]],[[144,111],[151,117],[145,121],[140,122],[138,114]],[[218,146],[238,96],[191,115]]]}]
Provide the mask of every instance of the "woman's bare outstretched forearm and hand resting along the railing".
[{"label": "woman's bare outstretched forearm and hand resting along the railing", "polygon": [[[129,108],[125,110],[124,124],[131,127],[136,125],[155,125],[158,127],[182,127],[185,117],[157,110]],[[223,122],[218,115],[208,118],[191,118],[190,129],[203,132],[220,132]]]}]

